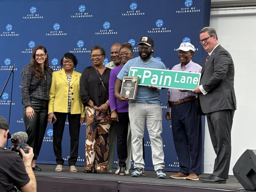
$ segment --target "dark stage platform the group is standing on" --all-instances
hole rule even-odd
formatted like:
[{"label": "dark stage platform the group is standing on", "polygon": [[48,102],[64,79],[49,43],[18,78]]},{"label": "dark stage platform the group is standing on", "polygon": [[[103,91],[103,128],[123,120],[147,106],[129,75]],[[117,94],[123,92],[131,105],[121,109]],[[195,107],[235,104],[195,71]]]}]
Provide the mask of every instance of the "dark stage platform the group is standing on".
[{"label": "dark stage platform the group is standing on", "polygon": [[[78,172],[69,172],[63,166],[62,172],[55,172],[56,165],[38,164],[42,171],[34,171],[38,192],[244,192],[244,188],[234,176],[229,176],[226,184],[206,184],[200,181],[172,179],[166,172],[167,179],[157,179],[154,171],[146,170],[141,178],[119,176],[112,173],[83,173],[82,166],[76,166]],[[132,170],[130,170],[130,173]],[[203,174],[202,176],[209,176]]]}]

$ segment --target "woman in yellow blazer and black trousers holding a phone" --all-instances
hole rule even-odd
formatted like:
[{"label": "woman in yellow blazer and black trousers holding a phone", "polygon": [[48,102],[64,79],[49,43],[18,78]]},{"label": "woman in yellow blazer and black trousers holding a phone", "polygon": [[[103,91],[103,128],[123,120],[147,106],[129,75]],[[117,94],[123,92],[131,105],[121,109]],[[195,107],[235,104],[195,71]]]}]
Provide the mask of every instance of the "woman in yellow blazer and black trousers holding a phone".
[{"label": "woman in yellow blazer and black trousers holding a phone", "polygon": [[80,125],[85,120],[84,106],[80,96],[81,73],[73,70],[77,65],[77,59],[72,53],[64,54],[60,65],[63,69],[52,73],[48,105],[48,121],[53,124],[53,150],[57,162],[55,171],[62,171],[64,164],[61,142],[68,116],[70,134],[68,165],[70,172],[77,172],[75,164],[78,157]]}]

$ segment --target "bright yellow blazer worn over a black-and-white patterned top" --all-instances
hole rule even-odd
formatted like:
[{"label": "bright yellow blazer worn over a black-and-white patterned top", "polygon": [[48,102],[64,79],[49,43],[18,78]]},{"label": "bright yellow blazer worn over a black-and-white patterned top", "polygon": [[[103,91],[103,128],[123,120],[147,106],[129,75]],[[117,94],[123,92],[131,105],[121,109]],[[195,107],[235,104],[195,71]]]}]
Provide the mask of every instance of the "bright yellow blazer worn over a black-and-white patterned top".
[{"label": "bright yellow blazer worn over a black-and-white patterned top", "polygon": [[[80,77],[81,73],[73,70],[70,82],[71,114],[81,114],[81,117],[85,117],[80,95]],[[68,80],[64,69],[52,73],[48,112],[68,112]]]}]

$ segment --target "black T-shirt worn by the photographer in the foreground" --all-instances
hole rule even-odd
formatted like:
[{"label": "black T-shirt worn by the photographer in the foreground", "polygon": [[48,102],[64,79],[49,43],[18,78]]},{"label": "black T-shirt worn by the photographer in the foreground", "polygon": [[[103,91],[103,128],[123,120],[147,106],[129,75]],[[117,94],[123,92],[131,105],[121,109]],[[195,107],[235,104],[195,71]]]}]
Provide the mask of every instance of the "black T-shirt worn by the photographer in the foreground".
[{"label": "black T-shirt worn by the photographer in the foreground", "polygon": [[0,183],[6,192],[12,192],[14,185],[24,187],[28,182],[30,178],[20,156],[0,147]]}]

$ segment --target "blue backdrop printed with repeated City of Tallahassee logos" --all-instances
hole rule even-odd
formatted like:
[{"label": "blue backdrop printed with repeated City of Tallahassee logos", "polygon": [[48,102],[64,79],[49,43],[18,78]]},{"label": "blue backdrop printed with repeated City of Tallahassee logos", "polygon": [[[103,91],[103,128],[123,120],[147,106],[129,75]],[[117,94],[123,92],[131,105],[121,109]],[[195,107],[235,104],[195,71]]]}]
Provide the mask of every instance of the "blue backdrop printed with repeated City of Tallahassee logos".
[{"label": "blue backdrop printed with repeated City of Tallahassee logos", "polygon": [[[179,63],[177,50],[181,42],[195,46],[193,61],[202,65],[206,53],[198,42],[198,32],[209,25],[210,0],[0,0],[0,90],[14,64],[12,77],[0,98],[0,116],[9,120],[10,133],[25,131],[20,96],[21,71],[29,64],[34,46],[44,45],[50,67],[60,70],[60,59],[72,52],[79,60],[76,70],[92,64],[90,48],[96,44],[106,49],[105,64],[110,61],[113,43],[130,42],[134,57],[141,36],[154,40],[154,57],[167,68]],[[11,91],[12,90],[12,91]],[[11,101],[12,96],[12,101]],[[163,108],[163,144],[166,170],[178,171],[170,122],[165,120],[166,90],[161,90]],[[68,122],[66,122],[68,126]],[[203,122],[204,124],[204,122]],[[84,166],[85,124],[81,126],[77,165]],[[52,150],[52,125],[48,124],[38,163],[56,163]],[[62,156],[69,158],[69,134],[65,128]],[[153,170],[151,147],[145,132],[146,166]],[[115,157],[114,166],[118,158]]]}]

